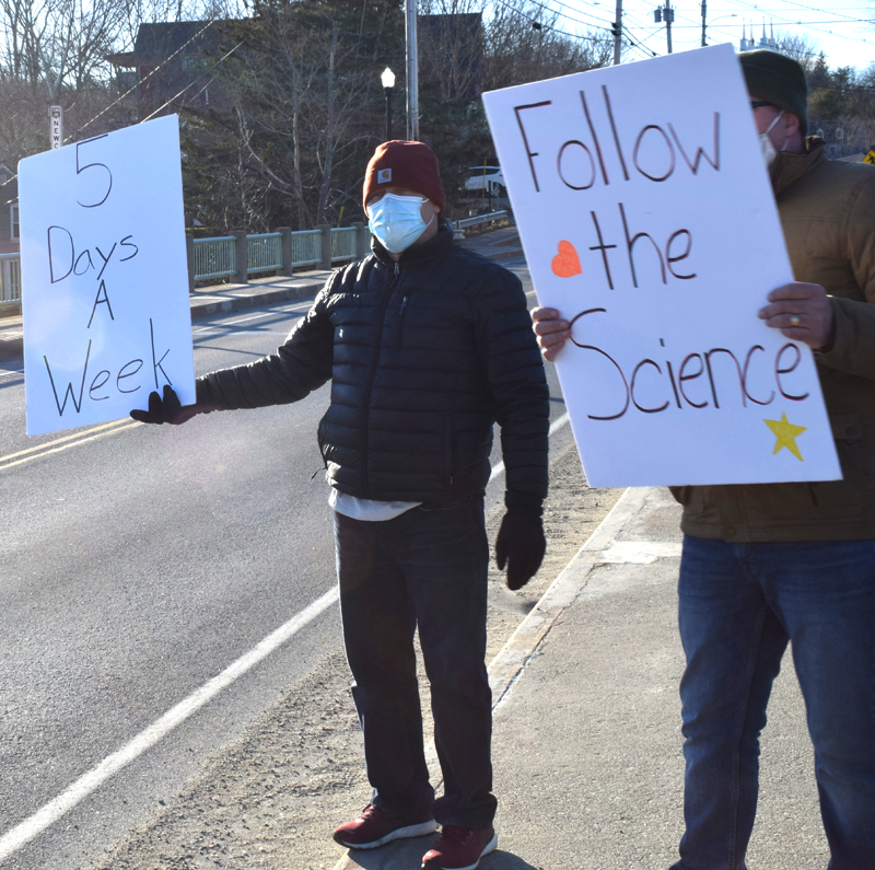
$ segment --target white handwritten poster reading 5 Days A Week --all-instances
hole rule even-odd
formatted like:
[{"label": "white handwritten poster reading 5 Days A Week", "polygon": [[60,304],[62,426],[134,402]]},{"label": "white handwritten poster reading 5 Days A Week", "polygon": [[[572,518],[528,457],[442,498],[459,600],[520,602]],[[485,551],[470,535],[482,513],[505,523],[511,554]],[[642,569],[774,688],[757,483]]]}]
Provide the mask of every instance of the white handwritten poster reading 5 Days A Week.
[{"label": "white handwritten poster reading 5 Days A Week", "polygon": [[23,160],[27,434],[195,401],[176,116]]}]

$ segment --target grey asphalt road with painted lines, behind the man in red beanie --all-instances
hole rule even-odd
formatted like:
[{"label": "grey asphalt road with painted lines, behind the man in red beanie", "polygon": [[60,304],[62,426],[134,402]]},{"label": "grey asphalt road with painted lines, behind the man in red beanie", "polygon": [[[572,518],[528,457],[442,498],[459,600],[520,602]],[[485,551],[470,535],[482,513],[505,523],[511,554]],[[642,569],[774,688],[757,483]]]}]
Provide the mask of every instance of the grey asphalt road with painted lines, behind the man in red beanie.
[{"label": "grey asphalt road with painted lines, behind the man in red beanie", "polygon": [[[197,321],[197,373],[273,350],[306,308]],[[27,438],[21,368],[0,368],[0,867],[78,870],[339,646],[328,388]]]}]

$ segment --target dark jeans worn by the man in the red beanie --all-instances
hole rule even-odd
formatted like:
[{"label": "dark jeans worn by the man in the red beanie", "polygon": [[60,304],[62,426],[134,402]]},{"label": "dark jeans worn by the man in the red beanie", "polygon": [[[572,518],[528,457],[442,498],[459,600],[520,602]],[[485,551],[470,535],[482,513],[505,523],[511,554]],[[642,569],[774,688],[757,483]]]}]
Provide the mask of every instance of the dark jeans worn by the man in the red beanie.
[{"label": "dark jeans worn by the man in the red beanie", "polygon": [[[492,692],[486,671],[489,545],[483,501],[421,504],[394,520],[335,513],[352,695],[372,803],[410,821],[492,824]],[[444,794],[422,745],[413,633],[431,686]]]}]

